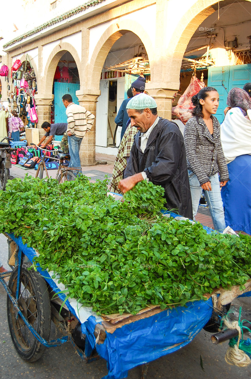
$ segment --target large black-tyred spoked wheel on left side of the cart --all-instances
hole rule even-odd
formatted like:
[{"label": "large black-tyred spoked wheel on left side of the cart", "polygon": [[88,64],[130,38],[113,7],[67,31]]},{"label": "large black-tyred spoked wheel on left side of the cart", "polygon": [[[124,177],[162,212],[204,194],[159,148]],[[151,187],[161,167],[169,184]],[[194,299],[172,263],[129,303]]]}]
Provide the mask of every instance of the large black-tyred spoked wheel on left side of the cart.
[{"label": "large black-tyred spoked wheel on left side of the cart", "polygon": [[[17,290],[17,273],[18,267],[15,267],[9,278],[8,286],[13,296]],[[51,329],[50,298],[45,280],[33,270],[21,268],[18,304],[29,324],[48,341]],[[18,315],[8,295],[7,316],[11,338],[20,357],[29,362],[38,360],[46,347],[37,340]]]}]

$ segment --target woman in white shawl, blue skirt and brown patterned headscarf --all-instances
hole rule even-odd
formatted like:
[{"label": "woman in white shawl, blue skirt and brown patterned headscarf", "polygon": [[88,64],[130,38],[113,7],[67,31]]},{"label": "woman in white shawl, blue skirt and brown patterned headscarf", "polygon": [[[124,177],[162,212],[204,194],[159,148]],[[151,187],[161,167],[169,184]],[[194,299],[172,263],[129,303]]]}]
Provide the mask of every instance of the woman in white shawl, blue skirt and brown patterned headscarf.
[{"label": "woman in white shawl, blue skirt and brown patterned headscarf", "polygon": [[232,88],[227,105],[220,132],[229,171],[229,182],[222,188],[225,221],[251,234],[251,100],[243,89]]}]

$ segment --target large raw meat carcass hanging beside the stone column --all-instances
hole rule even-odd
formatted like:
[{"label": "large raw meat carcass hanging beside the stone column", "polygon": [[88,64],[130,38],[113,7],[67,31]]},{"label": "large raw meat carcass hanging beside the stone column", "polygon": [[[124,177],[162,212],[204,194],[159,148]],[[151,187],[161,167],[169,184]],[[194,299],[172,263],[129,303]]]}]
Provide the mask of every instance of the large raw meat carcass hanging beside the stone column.
[{"label": "large raw meat carcass hanging beside the stone column", "polygon": [[176,106],[172,108],[172,116],[176,116],[183,124],[192,117],[192,97],[196,95],[201,88],[205,87],[205,83],[192,76],[189,86],[186,91],[181,95]]}]

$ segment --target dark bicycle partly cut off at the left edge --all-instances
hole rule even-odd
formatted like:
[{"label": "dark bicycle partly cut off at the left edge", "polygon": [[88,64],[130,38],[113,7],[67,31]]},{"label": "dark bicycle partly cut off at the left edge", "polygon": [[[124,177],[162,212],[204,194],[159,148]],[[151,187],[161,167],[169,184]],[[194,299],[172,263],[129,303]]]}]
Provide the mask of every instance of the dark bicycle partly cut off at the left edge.
[{"label": "dark bicycle partly cut off at the left edge", "polygon": [[[3,143],[7,139],[8,143]],[[4,191],[7,180],[9,179],[9,169],[11,168],[11,152],[17,150],[15,147],[9,146],[12,138],[5,137],[0,141],[0,190]]]}]

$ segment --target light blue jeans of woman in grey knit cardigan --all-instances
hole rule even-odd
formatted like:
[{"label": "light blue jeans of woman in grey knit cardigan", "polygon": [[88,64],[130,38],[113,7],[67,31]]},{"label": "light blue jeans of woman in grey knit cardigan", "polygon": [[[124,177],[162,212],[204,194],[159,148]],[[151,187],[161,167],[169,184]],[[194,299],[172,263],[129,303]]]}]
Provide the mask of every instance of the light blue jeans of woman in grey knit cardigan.
[{"label": "light blue jeans of woman in grey knit cardigan", "polygon": [[226,228],[226,224],[225,224],[225,215],[224,215],[224,209],[223,209],[222,196],[220,194],[220,182],[219,182],[218,174],[209,176],[212,191],[205,191],[204,189],[202,189],[197,176],[191,170],[188,170],[188,176],[189,176],[189,183],[190,183],[190,188],[191,188],[194,219],[198,211],[200,197],[203,192],[206,202],[208,203],[211,216],[212,216],[214,229],[218,230],[219,232],[223,232],[223,230]]}]

